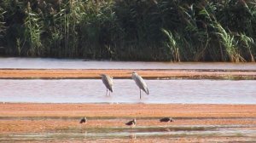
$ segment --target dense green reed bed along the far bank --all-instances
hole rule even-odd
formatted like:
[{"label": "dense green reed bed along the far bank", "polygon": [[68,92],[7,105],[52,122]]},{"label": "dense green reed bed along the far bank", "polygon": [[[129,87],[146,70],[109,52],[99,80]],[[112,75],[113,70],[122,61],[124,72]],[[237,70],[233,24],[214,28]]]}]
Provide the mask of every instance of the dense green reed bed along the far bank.
[{"label": "dense green reed bed along the far bank", "polygon": [[2,0],[0,52],[112,60],[254,61],[253,0]]}]

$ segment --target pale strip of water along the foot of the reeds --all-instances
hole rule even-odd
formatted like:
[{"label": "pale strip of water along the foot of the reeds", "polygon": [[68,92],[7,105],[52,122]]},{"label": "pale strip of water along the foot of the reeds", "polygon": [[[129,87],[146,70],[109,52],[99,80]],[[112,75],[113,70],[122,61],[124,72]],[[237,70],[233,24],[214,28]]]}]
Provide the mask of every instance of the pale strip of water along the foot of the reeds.
[{"label": "pale strip of water along the foot of the reeds", "polygon": [[141,62],[141,61],[86,61],[50,58],[0,58],[0,69],[214,69],[256,70],[256,63],[227,62]]}]

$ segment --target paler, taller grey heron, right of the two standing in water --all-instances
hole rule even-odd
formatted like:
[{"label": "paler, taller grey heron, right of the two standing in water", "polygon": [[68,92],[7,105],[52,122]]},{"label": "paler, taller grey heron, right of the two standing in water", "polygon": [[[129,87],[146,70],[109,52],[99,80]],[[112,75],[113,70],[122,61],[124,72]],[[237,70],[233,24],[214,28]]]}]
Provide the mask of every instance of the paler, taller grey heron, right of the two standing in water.
[{"label": "paler, taller grey heron, right of the two standing in water", "polygon": [[142,99],[142,89],[146,94],[149,94],[148,86],[143,80],[143,77],[139,76],[137,72],[132,72],[131,77],[135,81],[137,86],[140,88],[140,99]]}]

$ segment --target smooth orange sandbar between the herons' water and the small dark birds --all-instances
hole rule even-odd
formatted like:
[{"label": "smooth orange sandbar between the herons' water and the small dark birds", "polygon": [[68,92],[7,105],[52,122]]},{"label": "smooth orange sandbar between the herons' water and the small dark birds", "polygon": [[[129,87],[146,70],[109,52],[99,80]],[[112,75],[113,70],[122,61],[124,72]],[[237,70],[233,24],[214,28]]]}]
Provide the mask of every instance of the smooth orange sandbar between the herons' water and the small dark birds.
[{"label": "smooth orange sandbar between the herons' water and the small dark birds", "polygon": [[1,103],[0,117],[256,117],[256,105]]}]

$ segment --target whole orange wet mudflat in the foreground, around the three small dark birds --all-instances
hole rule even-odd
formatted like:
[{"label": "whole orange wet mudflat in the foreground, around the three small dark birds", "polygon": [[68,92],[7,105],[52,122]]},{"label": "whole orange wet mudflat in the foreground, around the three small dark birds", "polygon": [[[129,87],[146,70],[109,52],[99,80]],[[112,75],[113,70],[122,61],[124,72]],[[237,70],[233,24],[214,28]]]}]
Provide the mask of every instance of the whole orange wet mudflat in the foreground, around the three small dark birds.
[{"label": "whole orange wet mudflat in the foreground, around the three small dark birds", "polygon": [[[80,124],[81,117],[88,123]],[[137,118],[137,127],[184,126],[247,126],[256,129],[256,105],[199,105],[199,104],[36,104],[1,103],[0,133],[40,134],[61,133],[67,129],[127,128],[125,123]],[[160,123],[160,117],[173,117],[172,123]],[[136,128],[135,128],[136,129]],[[61,142],[205,142],[246,140],[241,136],[209,137],[147,137],[137,139],[80,139]],[[33,142],[45,142],[34,140]],[[57,140],[48,140],[58,142]]]}]

